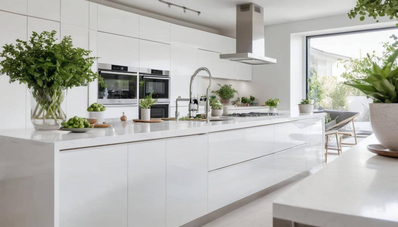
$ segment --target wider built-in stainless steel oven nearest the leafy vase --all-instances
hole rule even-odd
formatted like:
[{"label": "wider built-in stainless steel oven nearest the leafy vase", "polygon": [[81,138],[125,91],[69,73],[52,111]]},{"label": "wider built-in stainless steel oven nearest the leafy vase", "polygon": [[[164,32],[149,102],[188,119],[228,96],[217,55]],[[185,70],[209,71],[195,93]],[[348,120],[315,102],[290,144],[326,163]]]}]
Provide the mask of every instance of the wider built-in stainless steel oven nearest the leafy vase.
[{"label": "wider built-in stainless steel oven nearest the leafy vase", "polygon": [[98,103],[138,103],[137,67],[98,63],[98,74],[101,75],[105,82],[105,86],[98,84]]}]

